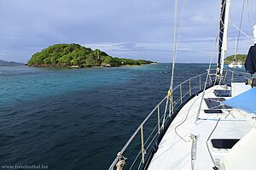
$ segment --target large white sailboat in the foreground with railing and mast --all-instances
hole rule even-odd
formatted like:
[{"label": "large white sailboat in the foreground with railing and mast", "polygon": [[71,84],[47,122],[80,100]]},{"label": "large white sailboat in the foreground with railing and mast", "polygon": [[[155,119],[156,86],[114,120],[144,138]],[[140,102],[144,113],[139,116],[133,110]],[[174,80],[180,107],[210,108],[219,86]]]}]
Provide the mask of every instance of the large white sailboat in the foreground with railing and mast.
[{"label": "large white sailboat in the foreground with railing and mast", "polygon": [[[256,45],[247,54],[247,72],[224,68],[232,2],[221,0],[216,68],[212,69],[213,50],[205,73],[173,87],[177,54],[175,0],[170,88],[117,151],[109,170],[256,169]],[[256,26],[254,40],[256,43]]]}]

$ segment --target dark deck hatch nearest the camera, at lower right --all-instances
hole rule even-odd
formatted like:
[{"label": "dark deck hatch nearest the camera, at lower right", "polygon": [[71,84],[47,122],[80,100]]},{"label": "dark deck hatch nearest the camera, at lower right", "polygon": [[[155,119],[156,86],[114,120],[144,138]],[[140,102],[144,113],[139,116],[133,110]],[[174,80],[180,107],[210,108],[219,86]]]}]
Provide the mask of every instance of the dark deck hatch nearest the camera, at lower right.
[{"label": "dark deck hatch nearest the camera, at lower right", "polygon": [[211,139],[212,146],[217,149],[231,149],[240,139]]}]

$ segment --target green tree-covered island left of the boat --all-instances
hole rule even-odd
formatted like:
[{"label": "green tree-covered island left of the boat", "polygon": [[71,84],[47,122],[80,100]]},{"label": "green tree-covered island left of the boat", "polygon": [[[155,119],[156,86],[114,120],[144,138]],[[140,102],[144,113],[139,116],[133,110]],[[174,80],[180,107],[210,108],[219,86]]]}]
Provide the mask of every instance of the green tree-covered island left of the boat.
[{"label": "green tree-covered island left of the boat", "polygon": [[79,44],[55,44],[33,54],[27,62],[33,67],[118,67],[154,63],[144,59],[120,59],[99,49],[92,50]]}]

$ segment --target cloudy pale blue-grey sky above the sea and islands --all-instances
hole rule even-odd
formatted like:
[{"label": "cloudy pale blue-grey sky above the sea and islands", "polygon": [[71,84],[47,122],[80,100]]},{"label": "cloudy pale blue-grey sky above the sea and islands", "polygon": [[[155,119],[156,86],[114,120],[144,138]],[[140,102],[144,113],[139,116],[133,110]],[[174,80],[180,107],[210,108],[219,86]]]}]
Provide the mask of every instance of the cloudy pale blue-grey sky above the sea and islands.
[{"label": "cloudy pale blue-grey sky above the sea and islands", "polygon": [[[253,37],[256,2],[245,2],[241,30]],[[235,53],[242,4],[231,0],[227,56]],[[177,62],[210,61],[219,8],[220,1],[178,1]],[[174,0],[0,0],[0,59],[26,63],[52,44],[79,43],[114,57],[172,62],[173,11]],[[251,44],[241,33],[238,54]]]}]

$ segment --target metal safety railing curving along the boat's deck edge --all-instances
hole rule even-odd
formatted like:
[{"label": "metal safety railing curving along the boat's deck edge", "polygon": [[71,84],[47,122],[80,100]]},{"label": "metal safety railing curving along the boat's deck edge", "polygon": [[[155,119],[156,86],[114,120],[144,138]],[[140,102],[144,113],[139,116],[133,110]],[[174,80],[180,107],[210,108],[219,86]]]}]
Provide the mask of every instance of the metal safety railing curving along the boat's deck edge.
[{"label": "metal safety railing curving along the boat's deck edge", "polygon": [[[125,166],[122,165],[124,169],[140,169],[145,163],[147,151],[152,148],[156,137],[160,136],[160,133],[164,130],[168,118],[170,120],[179,107],[193,97],[193,95],[201,92],[205,83],[207,83],[207,87],[210,87],[216,80],[215,72],[216,70],[207,70],[206,73],[191,77],[173,88],[172,94],[167,94],[160,103],[150,111],[139,127],[137,127],[136,131],[131,135],[131,138],[128,139],[124,147],[119,151],[118,156],[113,160],[108,170],[115,169],[116,164],[124,159],[124,156],[128,158]],[[242,78],[248,77],[246,72],[229,70],[224,70],[223,75],[224,76],[221,78],[222,83],[234,82],[236,80],[235,77],[241,77],[241,75]],[[208,81],[206,82],[206,80]],[[150,125],[148,129],[146,126],[147,123]],[[130,152],[128,151],[128,147],[131,147]],[[136,149],[138,152],[134,154],[134,150]]]}]

